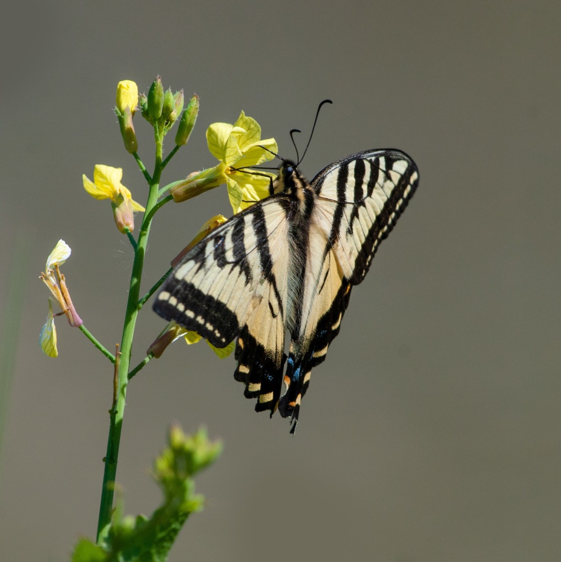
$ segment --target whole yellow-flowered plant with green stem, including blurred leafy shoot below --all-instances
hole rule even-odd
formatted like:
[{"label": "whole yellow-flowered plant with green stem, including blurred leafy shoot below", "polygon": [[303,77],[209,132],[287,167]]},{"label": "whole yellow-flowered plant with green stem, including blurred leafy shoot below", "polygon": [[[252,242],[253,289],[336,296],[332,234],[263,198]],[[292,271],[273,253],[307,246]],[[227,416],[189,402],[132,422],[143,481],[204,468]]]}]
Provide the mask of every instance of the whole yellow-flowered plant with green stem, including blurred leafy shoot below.
[{"label": "whole yellow-flowered plant with green stem, including blurred leafy shoot below", "polygon": [[[65,315],[69,325],[82,331],[97,350],[107,357],[113,373],[113,398],[109,410],[109,436],[104,459],[97,539],[96,542],[81,539],[75,547],[73,562],[165,560],[187,516],[202,505],[202,497],[194,495],[192,475],[211,464],[221,448],[219,442],[210,442],[203,430],[190,437],[183,434],[178,427],[172,428],[168,447],[158,457],[154,468],[154,478],[164,492],[163,504],[151,518],[138,516],[133,519],[122,516],[122,506],[119,503],[114,506],[115,476],[128,383],[176,339],[183,336],[182,339],[189,344],[201,339],[196,332],[170,323],[149,346],[144,359],[131,367],[131,350],[138,314],[172,271],[169,269],[144,296],[140,295],[144,256],[152,220],[166,203],[186,201],[223,184],[227,187],[234,213],[245,209],[269,194],[272,181],[271,175],[254,175],[246,169],[271,160],[273,153],[277,152],[275,139],[261,139],[261,127],[257,121],[242,111],[234,124],[213,123],[207,129],[208,148],[217,158],[218,164],[160,187],[165,167],[178,149],[189,140],[199,113],[199,97],[194,95],[186,107],[183,105],[183,90],[173,93],[168,89],[164,92],[159,76],[151,84],[147,95],[139,95],[138,87],[132,80],[123,80],[118,84],[115,115],[124,147],[136,160],[148,185],[145,206],[133,200],[131,190],[123,185],[123,170],[120,167],[96,164],[93,181],[86,174],[82,176],[83,187],[89,195],[96,200],[110,200],[115,225],[120,233],[127,235],[134,254],[122,339],[116,344],[115,353],[109,351],[93,336],[78,316],[66,279],[60,271],[71,254],[70,246],[62,239],[48,256],[44,272],[40,276],[51,293],[48,298],[47,321],[39,336],[39,344],[45,355],[52,358],[59,355],[55,318]],[[142,117],[154,129],[155,164],[151,173],[138,155],[139,145],[133,124],[138,106]],[[164,158],[164,138],[176,122],[175,146]],[[138,198],[140,189],[136,187],[133,191],[136,193],[135,198]],[[133,235],[134,212],[143,213],[136,238]],[[226,217],[222,215],[209,219],[182,254],[225,220]],[[172,266],[175,263],[176,260],[172,262]],[[53,304],[60,307],[59,312],[53,312]],[[212,345],[210,347],[219,357],[226,357],[233,350],[234,344],[232,342],[220,349]]]}]

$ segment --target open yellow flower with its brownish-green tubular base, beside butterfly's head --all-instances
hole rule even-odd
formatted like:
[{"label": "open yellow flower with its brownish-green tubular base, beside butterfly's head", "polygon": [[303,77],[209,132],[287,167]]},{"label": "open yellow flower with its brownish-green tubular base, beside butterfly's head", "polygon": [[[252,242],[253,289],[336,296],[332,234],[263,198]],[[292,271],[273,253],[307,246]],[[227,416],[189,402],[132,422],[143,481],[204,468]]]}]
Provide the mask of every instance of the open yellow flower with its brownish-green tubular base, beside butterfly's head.
[{"label": "open yellow flower with its brownish-green tubular base, beside butterfly's head", "polygon": [[207,143],[220,164],[176,182],[169,190],[175,202],[185,201],[225,183],[232,210],[237,213],[270,194],[273,174],[239,171],[272,160],[272,152],[278,150],[275,139],[261,140],[261,127],[253,117],[247,117],[242,111],[234,125],[213,123],[207,129]]}]

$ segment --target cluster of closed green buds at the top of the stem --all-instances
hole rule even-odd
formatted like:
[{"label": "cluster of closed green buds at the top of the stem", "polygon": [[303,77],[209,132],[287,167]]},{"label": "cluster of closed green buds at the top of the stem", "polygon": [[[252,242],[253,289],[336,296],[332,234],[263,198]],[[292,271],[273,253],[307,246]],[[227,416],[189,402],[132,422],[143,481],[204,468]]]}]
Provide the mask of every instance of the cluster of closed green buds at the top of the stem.
[{"label": "cluster of closed green buds at the top of the stem", "polygon": [[184,101],[182,89],[173,93],[168,88],[164,92],[160,76],[156,76],[156,79],[152,82],[148,95],[142,94],[140,96],[142,117],[155,127],[157,126],[164,135],[181,116],[176,135],[176,144],[179,146],[185,144],[189,139],[199,114],[199,96],[195,95],[191,98],[182,115]]}]

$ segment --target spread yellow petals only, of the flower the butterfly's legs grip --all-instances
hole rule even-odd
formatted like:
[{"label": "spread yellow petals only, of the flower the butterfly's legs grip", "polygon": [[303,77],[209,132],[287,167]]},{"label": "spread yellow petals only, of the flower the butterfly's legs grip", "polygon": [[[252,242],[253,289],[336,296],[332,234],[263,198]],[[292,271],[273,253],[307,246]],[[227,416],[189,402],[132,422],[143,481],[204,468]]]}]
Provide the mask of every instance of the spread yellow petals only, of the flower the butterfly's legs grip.
[{"label": "spread yellow petals only, of the flower the butterfly's legs grip", "polygon": [[272,160],[275,156],[271,152],[278,151],[275,139],[261,140],[261,127],[253,117],[246,116],[242,111],[234,125],[213,123],[207,129],[207,144],[210,153],[222,162],[221,171],[226,176],[228,197],[234,213],[270,194],[273,174],[264,177],[251,174],[249,170],[245,173],[238,171]]}]

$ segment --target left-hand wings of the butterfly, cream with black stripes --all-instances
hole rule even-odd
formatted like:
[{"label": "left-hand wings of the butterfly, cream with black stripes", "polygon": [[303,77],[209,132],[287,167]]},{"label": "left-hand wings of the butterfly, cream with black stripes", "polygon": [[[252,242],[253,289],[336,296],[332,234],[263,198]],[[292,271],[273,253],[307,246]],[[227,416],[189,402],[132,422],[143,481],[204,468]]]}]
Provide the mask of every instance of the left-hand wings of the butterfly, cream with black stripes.
[{"label": "left-hand wings of the butterfly, cream with black stripes", "polygon": [[216,347],[237,337],[235,378],[256,409],[273,411],[284,366],[291,200],[262,200],[214,229],[173,271],[154,302],[167,320]]}]

